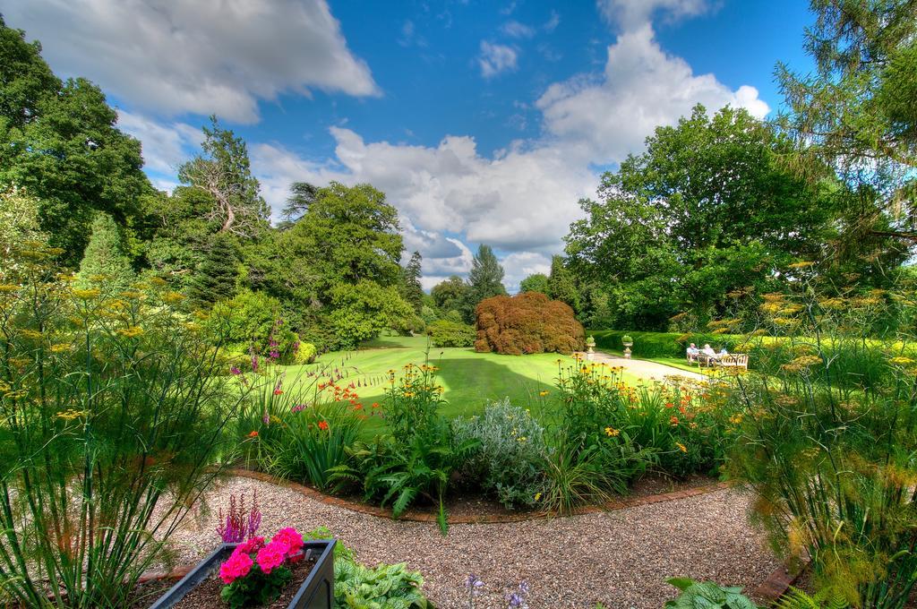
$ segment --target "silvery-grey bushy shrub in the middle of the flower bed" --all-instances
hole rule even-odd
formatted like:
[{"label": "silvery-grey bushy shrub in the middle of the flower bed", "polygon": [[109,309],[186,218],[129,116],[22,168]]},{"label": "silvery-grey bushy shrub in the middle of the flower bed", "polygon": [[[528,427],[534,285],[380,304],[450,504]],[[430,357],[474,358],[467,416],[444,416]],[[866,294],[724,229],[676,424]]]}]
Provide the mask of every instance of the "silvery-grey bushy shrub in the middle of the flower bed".
[{"label": "silvery-grey bushy shrub in the middle of the flower bed", "polygon": [[531,507],[544,491],[545,430],[509,398],[489,404],[484,414],[452,422],[458,443],[477,448],[461,466],[467,482],[480,482],[507,509]]}]

